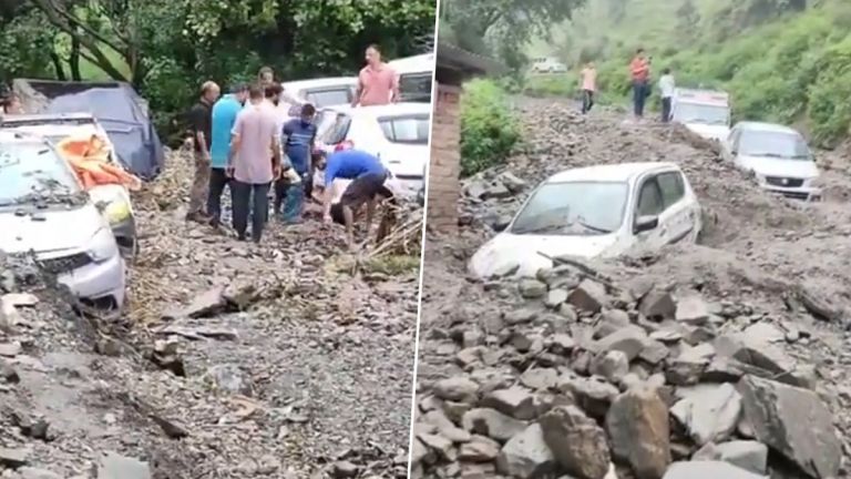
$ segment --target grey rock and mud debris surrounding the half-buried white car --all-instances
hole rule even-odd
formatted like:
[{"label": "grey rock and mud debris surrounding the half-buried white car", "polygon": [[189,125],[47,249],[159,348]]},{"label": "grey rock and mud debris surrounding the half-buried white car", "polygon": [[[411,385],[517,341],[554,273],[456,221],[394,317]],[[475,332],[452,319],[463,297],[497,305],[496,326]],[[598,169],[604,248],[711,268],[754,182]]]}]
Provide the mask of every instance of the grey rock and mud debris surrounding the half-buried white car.
[{"label": "grey rock and mud debris surrounding the half-buried white car", "polygon": [[[834,161],[828,200],[802,204],[762,193],[681,129],[548,100],[517,108],[530,141],[468,183],[499,188],[509,171],[529,186],[465,197],[471,225],[426,245],[419,477],[602,479],[611,463],[621,479],[845,477],[851,177]],[[537,281],[465,279],[488,225],[539,181],[634,161],[685,170],[707,213],[701,244]],[[668,466],[697,459],[737,468]]]}]

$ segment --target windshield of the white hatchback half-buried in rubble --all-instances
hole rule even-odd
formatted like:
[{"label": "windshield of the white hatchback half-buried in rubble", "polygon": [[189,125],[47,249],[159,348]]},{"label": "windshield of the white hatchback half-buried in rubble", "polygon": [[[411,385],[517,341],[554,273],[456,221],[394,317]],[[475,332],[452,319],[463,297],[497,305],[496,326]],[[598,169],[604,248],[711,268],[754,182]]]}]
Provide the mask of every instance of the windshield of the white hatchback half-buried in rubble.
[{"label": "windshield of the white hatchback half-buried in rubble", "polygon": [[623,182],[547,183],[517,214],[513,234],[599,235],[621,227],[628,185]]}]

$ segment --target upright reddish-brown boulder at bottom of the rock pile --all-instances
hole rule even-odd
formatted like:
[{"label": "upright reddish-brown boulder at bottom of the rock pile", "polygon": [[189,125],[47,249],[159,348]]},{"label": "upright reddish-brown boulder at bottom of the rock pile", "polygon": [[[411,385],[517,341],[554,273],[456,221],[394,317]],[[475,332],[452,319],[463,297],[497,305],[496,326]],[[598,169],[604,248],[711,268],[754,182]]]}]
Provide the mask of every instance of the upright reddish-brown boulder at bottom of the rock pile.
[{"label": "upright reddish-brown boulder at bottom of the rock pile", "polygon": [[606,415],[612,455],[637,479],[658,479],[670,462],[668,408],[656,389],[636,387],[618,396]]}]

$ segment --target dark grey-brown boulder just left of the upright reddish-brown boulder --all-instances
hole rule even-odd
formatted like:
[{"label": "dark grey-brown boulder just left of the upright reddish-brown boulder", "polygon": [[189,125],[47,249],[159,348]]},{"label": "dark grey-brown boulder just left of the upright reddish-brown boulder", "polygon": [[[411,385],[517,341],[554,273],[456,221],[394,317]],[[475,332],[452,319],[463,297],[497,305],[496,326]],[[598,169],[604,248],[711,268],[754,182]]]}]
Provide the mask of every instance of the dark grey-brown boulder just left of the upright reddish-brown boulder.
[{"label": "dark grey-brown boulder just left of the upright reddish-brown boulder", "polygon": [[555,407],[541,417],[544,442],[567,473],[581,479],[603,479],[611,456],[606,435],[574,406]]}]

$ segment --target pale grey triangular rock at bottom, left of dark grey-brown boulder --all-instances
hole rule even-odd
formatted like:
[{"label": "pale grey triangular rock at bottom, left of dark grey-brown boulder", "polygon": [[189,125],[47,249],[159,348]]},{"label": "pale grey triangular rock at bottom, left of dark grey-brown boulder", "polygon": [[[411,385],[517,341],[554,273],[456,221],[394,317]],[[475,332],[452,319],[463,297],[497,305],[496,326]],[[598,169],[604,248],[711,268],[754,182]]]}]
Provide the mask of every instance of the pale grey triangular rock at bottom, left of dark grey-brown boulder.
[{"label": "pale grey triangular rock at bottom, left of dark grey-brown boulder", "polygon": [[534,479],[555,469],[555,457],[544,442],[541,425],[533,424],[502,447],[496,469],[519,479]]}]

